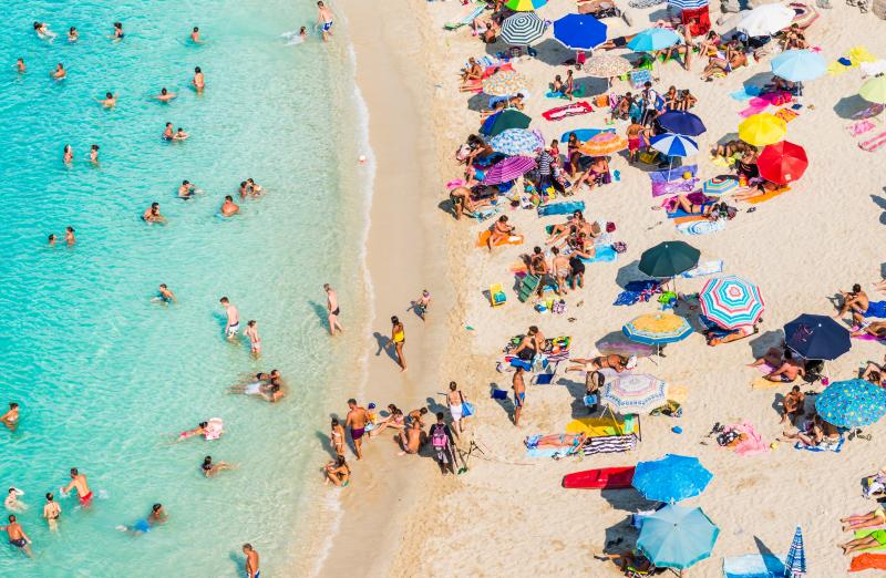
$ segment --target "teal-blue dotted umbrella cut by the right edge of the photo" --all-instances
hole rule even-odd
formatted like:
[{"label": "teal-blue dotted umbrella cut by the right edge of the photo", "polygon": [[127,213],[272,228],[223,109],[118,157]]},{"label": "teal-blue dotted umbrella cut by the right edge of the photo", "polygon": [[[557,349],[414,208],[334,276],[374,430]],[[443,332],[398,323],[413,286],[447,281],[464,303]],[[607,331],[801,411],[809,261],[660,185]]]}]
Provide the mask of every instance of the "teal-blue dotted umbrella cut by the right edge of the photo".
[{"label": "teal-blue dotted umbrella cut by the right edge of the photo", "polygon": [[815,411],[837,427],[864,427],[886,414],[886,390],[857,378],[837,381],[815,398]]}]

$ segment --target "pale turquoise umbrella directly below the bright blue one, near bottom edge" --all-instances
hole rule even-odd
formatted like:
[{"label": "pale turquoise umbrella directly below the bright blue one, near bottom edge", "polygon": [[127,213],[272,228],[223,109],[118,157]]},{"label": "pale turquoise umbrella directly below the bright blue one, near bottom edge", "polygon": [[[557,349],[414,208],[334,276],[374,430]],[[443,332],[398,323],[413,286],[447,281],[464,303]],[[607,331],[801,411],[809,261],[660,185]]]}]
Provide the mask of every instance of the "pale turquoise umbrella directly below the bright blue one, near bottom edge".
[{"label": "pale turquoise umbrella directly below the bright blue one, near bottom edge", "polygon": [[643,519],[637,547],[659,568],[689,568],[711,555],[720,528],[701,508],[669,504]]}]

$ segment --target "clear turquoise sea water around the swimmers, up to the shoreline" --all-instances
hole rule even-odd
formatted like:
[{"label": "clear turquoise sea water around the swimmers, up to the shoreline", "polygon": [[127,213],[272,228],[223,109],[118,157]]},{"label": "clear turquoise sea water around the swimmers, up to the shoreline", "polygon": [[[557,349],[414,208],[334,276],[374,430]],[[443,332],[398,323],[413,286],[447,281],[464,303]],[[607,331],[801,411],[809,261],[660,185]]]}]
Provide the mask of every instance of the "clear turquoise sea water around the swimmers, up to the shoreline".
[{"label": "clear turquoise sea water around the swimmers, up to the shoreline", "polygon": [[[0,576],[234,576],[244,541],[262,554],[262,576],[277,576],[298,556],[293,544],[310,531],[299,520],[326,458],[326,399],[338,391],[328,368],[346,354],[323,333],[321,286],[340,286],[344,303],[361,292],[346,51],[279,37],[310,28],[315,10],[282,0],[4,7],[0,404],[19,402],[22,419],[14,433],[0,431],[0,487],[27,492],[19,518],[35,559],[0,547]],[[59,38],[37,39],[34,20]],[[126,31],[116,44],[106,38],[114,21]],[[195,24],[208,43],[186,41]],[[81,33],[75,44],[64,38],[70,25]],[[27,74],[13,70],[18,56]],[[69,71],[63,82],[49,78],[56,62]],[[189,87],[196,65],[204,95]],[[178,99],[152,102],[162,86]],[[119,93],[115,110],[93,100],[106,91]],[[167,121],[192,137],[162,142]],[[93,143],[99,167],[86,159]],[[267,197],[217,217],[247,177]],[[205,193],[175,198],[185,178]],[[140,220],[152,202],[168,225]],[[69,225],[76,246],[48,248],[47,235],[63,238]],[[161,282],[178,305],[150,301]],[[244,321],[258,320],[262,360],[223,339],[222,296]],[[271,368],[290,386],[281,404],[226,394],[241,374]],[[171,443],[213,416],[226,422],[223,440]],[[239,467],[205,479],[207,454]],[[72,466],[100,495],[89,509],[58,496]],[[40,518],[48,491],[63,508],[58,535]],[[154,502],[167,525],[141,537],[113,529]]]}]

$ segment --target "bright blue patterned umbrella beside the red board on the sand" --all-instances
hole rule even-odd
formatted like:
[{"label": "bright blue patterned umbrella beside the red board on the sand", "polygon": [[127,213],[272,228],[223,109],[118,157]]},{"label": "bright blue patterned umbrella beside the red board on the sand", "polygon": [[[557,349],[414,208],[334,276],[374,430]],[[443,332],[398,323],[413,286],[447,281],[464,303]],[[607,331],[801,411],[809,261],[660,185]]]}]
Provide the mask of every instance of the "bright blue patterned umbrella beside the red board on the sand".
[{"label": "bright blue patterned umbrella beside the red board on the sand", "polygon": [[646,499],[673,504],[698,496],[711,479],[713,474],[698,457],[667,454],[661,460],[637,464],[631,484]]}]

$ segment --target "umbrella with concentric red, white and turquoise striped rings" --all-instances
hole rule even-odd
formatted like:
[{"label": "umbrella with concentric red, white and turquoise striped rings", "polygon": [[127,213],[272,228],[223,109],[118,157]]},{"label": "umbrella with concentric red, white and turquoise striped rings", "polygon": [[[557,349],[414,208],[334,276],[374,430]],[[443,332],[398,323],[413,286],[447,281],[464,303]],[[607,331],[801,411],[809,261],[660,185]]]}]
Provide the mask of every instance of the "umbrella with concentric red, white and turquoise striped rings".
[{"label": "umbrella with concentric red, white and turquoise striped rings", "polygon": [[704,317],[723,329],[753,326],[765,307],[760,289],[734,276],[709,280],[699,292],[699,301]]}]

